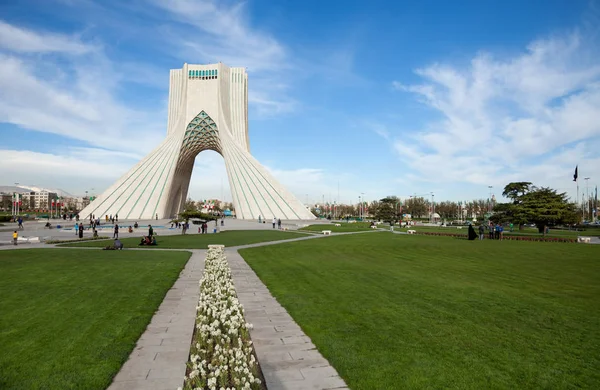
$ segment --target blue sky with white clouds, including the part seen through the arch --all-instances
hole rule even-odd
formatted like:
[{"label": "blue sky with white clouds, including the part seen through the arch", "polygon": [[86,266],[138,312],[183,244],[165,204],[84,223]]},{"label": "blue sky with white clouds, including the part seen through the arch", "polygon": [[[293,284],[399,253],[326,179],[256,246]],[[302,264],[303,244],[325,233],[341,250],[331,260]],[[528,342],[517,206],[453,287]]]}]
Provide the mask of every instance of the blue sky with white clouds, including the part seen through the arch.
[{"label": "blue sky with white clouds, including the part seen through the arch", "polygon": [[[4,2],[0,184],[101,192],[166,133],[169,69],[217,61],[248,68],[252,153],[302,201],[599,182],[600,4],[450,3]],[[201,153],[190,196],[222,194]]]}]

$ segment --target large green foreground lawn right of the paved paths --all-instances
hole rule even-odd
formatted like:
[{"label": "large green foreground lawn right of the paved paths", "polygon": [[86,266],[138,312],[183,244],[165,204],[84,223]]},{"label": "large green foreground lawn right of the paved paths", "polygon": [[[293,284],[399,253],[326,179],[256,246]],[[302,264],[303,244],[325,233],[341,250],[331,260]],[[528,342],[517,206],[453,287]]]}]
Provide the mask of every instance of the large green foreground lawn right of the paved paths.
[{"label": "large green foreground lawn right of the paved paths", "polygon": [[350,388],[600,388],[600,246],[390,233],[240,251]]}]

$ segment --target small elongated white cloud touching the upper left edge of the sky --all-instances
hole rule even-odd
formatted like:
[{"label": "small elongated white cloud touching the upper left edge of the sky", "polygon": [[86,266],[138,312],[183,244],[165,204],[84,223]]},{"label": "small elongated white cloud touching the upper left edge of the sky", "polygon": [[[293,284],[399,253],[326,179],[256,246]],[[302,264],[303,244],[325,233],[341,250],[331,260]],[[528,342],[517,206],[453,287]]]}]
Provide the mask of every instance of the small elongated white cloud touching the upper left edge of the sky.
[{"label": "small elongated white cloud touching the upper left edge of the sky", "polygon": [[0,20],[0,48],[19,53],[85,54],[95,50],[76,36],[35,33]]}]

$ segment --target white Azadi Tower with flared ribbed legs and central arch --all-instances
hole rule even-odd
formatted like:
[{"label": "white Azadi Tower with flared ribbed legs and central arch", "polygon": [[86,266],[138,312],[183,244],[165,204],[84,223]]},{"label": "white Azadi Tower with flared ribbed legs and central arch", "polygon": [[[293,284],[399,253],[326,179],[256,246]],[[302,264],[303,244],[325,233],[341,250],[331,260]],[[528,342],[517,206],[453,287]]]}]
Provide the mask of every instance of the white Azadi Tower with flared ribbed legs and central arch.
[{"label": "white Azadi Tower with flared ribbed legs and central arch", "polygon": [[221,63],[171,70],[167,137],[79,215],[175,217],[203,150],[225,159],[237,218],[315,218],[250,154],[248,75]]}]

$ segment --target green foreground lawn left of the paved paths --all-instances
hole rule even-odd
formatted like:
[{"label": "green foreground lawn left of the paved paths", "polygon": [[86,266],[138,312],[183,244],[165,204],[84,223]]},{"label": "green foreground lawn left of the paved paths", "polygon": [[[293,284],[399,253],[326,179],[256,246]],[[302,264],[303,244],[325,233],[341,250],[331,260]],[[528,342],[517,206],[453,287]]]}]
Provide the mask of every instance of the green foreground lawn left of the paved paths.
[{"label": "green foreground lawn left of the paved paths", "polygon": [[105,389],[189,256],[0,251],[0,389]]}]

